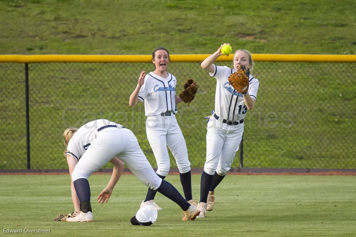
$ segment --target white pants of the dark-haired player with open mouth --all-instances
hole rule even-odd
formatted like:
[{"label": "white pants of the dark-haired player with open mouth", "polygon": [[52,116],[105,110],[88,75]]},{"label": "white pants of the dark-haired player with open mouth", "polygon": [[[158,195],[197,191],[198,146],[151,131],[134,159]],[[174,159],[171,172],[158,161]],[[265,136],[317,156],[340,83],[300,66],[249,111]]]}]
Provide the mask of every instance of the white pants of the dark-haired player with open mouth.
[{"label": "white pants of the dark-haired player with open mouth", "polygon": [[187,145],[175,115],[148,116],[146,134],[157,162],[157,174],[167,176],[170,168],[168,148],[176,159],[179,172],[184,174],[190,170]]}]

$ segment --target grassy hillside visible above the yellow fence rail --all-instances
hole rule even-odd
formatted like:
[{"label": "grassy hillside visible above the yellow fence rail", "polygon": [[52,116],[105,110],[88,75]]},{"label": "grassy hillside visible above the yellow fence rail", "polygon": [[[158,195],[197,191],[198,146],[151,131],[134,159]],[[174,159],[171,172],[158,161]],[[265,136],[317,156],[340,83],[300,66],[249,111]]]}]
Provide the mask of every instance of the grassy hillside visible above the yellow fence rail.
[{"label": "grassy hillside visible above the yellow fence rail", "polygon": [[1,0],[0,54],[356,53],[353,0]]}]

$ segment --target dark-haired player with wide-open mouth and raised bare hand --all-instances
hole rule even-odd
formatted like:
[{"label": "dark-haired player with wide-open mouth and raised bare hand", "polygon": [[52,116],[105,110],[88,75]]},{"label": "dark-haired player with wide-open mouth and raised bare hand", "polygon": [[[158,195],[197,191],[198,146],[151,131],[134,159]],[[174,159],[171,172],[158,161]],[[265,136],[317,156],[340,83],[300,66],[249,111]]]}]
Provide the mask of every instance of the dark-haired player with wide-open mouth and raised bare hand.
[{"label": "dark-haired player with wide-open mouth and raised bare hand", "polygon": [[[130,106],[135,106],[138,100],[145,103],[146,134],[157,162],[157,175],[164,179],[168,175],[170,163],[167,146],[176,159],[180,182],[183,186],[185,200],[197,205],[192,197],[190,162],[187,146],[176,120],[177,104],[182,100],[176,96],[177,79],[167,72],[169,53],[166,48],[156,48],[152,53],[152,63],[155,70],[146,75],[142,71],[138,84],[130,96]],[[154,205],[157,191],[148,189],[144,205]]]}]

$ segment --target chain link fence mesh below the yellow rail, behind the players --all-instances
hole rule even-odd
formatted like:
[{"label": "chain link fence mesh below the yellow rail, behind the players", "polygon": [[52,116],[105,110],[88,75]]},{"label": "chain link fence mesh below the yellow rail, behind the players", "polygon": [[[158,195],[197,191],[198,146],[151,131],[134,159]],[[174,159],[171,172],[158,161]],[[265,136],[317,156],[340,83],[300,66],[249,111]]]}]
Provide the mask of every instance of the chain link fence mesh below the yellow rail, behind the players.
[{"label": "chain link fence mesh below the yellow rail, behind the players", "polygon": [[[28,168],[24,65],[0,63],[0,169]],[[28,64],[30,168],[66,169],[63,131],[98,118],[131,129],[157,167],[143,103],[129,106],[142,70],[153,71],[153,64]],[[189,107],[179,103],[176,116],[192,167],[203,167],[204,117],[214,109],[216,80],[198,62],[172,62],[168,71],[178,80],[177,92],[185,79],[198,82],[194,101]],[[255,62],[253,75],[260,88],[245,119],[244,167],[356,168],[356,63]],[[239,165],[237,152],[232,166]]]}]

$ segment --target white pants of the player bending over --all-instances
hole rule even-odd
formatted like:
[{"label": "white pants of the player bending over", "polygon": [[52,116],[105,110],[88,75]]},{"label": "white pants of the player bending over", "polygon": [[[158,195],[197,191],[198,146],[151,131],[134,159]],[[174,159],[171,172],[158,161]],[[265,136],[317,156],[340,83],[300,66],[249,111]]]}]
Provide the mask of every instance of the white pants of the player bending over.
[{"label": "white pants of the player bending over", "polygon": [[75,165],[72,179],[88,179],[95,171],[114,156],[119,158],[147,187],[156,190],[162,179],[157,176],[137,138],[126,128],[105,128],[96,133],[96,138]]}]

